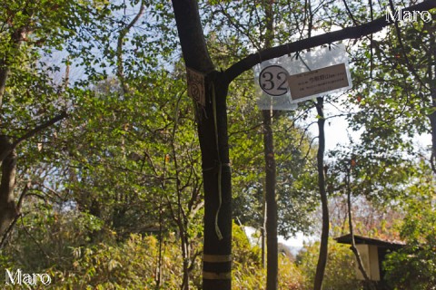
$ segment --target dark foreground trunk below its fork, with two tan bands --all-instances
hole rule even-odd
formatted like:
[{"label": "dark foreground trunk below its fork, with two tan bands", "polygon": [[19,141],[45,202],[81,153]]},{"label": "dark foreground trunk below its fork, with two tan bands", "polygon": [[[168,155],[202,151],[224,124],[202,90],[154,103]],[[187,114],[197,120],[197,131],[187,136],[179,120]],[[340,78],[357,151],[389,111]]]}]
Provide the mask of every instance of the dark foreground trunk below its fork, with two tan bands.
[{"label": "dark foreground trunk below its fork, with two tan bands", "polygon": [[[231,289],[232,190],[225,103],[227,84],[221,80],[221,73],[215,76],[198,125],[204,188],[203,289]],[[213,94],[215,108],[211,102]],[[213,115],[216,116],[216,132]]]}]

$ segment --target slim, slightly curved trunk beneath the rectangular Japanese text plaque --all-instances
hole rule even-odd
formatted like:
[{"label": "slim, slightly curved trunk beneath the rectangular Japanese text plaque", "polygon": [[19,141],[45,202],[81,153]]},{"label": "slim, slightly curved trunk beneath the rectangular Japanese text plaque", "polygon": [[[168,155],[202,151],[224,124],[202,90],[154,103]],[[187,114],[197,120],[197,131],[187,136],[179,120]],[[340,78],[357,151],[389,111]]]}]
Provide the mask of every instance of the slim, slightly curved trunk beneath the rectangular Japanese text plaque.
[{"label": "slim, slightly curved trunk beneath the rectangular Japanese text plaque", "polygon": [[324,278],[325,266],[327,264],[328,246],[329,246],[329,205],[327,200],[327,192],[325,190],[325,172],[324,172],[324,150],[325,150],[325,135],[324,135],[324,113],[323,113],[323,99],[317,98],[315,104],[316,111],[318,112],[318,129],[319,133],[319,146],[317,154],[318,163],[318,187],[320,190],[321,204],[322,204],[322,234],[320,244],[320,256],[318,257],[318,264],[316,266],[315,282],[313,289],[322,289],[322,280]]}]

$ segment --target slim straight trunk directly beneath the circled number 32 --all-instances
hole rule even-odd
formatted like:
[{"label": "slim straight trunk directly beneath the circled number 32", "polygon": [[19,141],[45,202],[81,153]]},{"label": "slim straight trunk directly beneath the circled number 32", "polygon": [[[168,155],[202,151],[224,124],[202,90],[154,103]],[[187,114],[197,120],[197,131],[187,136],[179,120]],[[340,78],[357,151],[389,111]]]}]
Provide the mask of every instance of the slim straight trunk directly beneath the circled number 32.
[{"label": "slim straight trunk directly beneath the circled number 32", "polygon": [[266,202],[266,289],[277,289],[277,201],[275,200],[275,158],[272,137],[272,111],[263,113],[263,146],[265,155],[265,202]]}]

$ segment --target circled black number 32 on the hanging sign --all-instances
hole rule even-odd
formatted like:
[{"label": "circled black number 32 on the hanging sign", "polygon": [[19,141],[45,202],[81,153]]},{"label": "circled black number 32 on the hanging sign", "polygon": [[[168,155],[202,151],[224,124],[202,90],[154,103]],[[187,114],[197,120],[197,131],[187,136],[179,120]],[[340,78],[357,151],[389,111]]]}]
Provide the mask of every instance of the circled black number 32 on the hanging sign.
[{"label": "circled black number 32 on the hanging sign", "polygon": [[280,65],[270,65],[265,67],[259,74],[259,84],[263,92],[278,97],[289,91],[289,73]]}]

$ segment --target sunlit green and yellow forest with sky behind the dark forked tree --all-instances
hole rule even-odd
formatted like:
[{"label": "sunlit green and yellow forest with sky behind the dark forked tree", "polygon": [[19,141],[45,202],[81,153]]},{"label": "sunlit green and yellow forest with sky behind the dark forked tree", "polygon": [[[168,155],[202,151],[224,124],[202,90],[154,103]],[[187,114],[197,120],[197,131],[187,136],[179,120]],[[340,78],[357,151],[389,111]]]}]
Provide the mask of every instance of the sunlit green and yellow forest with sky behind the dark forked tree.
[{"label": "sunlit green and yellow forest with sky behind the dark forked tree", "polygon": [[[213,63],[225,70],[416,3],[211,0],[198,8]],[[350,233],[350,196],[354,234],[407,242],[384,264],[386,286],[436,285],[430,13],[431,21],[344,40],[353,87],[324,96],[323,115],[313,100],[274,111],[268,122],[256,108],[253,72],[230,84],[234,289],[262,289],[267,280],[265,243],[243,232],[254,227],[266,239],[265,128],[273,132],[278,233],[320,236],[320,136],[312,127],[322,120],[335,128],[337,118],[359,134],[323,154],[329,236]],[[172,4],[8,1],[0,24],[1,269],[48,274],[54,289],[202,288],[207,169],[196,127],[204,111],[187,95]],[[416,142],[423,135],[431,146]],[[278,288],[316,285],[319,249],[310,243],[292,256],[282,247]],[[330,240],[326,262],[324,289],[365,286],[349,247]]]}]

